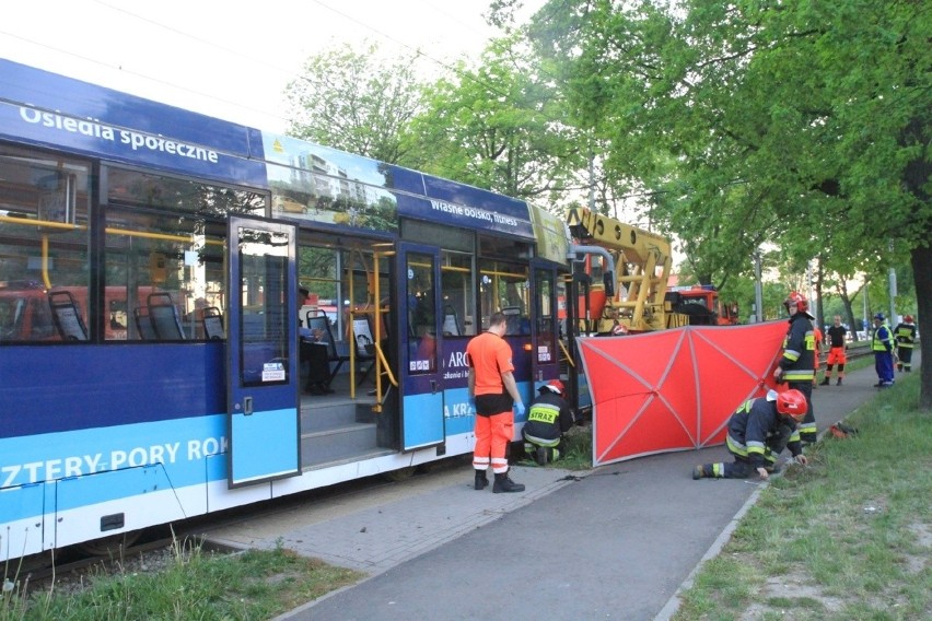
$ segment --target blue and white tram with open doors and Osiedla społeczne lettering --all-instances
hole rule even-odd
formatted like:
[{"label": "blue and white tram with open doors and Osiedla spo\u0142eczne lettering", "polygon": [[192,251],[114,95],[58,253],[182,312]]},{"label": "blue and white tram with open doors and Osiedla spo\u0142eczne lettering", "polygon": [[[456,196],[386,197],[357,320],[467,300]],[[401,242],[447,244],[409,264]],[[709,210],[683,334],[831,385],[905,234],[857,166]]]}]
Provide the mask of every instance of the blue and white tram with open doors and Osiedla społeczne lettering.
[{"label": "blue and white tram with open doors and Osiedla spo\u0142eczne lettering", "polygon": [[0,559],[471,452],[490,313],[559,375],[563,231],[0,60]]}]

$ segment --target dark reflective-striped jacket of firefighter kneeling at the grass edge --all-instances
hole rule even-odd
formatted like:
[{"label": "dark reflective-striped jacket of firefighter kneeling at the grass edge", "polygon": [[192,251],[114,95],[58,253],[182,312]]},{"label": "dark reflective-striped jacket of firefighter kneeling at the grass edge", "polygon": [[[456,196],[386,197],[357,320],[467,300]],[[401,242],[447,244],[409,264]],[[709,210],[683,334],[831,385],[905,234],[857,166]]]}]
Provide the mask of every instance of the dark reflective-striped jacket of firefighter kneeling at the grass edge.
[{"label": "dark reflective-striped jacket of firefighter kneeling at the grass edge", "polygon": [[776,401],[768,401],[764,397],[748,399],[729,419],[729,449],[747,457],[753,468],[761,468],[765,464],[767,441],[778,435],[784,425],[792,432],[787,448],[795,457],[803,452],[796,422],[790,417],[777,413]]}]

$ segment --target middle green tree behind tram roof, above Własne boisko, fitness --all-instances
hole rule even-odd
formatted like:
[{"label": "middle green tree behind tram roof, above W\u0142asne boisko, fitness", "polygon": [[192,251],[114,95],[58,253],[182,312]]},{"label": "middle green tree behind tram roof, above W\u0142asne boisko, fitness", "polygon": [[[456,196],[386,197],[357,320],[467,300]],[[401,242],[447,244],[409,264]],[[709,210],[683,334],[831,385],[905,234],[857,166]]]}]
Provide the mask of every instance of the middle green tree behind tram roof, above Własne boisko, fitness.
[{"label": "middle green tree behind tram roof, above W\u0142asne boisko, fitness", "polygon": [[428,89],[412,131],[420,169],[506,196],[552,202],[584,185],[585,154],[546,70],[512,35]]}]

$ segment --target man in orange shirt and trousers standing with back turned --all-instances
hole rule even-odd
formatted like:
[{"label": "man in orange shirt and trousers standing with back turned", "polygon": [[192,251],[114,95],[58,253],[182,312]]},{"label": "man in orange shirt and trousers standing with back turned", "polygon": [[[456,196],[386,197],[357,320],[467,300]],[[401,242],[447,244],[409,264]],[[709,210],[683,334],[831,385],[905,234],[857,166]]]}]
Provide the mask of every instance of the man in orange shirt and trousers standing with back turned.
[{"label": "man in orange shirt and trousers standing with back turned", "polygon": [[489,484],[489,466],[496,473],[492,492],[523,492],[524,485],[508,476],[508,445],[514,434],[514,412],[524,414],[524,403],[514,380],[511,345],[504,340],[508,319],[502,313],[489,317],[489,329],[473,337],[466,345],[469,365],[469,402],[476,410],[476,446],[473,468],[475,489]]}]

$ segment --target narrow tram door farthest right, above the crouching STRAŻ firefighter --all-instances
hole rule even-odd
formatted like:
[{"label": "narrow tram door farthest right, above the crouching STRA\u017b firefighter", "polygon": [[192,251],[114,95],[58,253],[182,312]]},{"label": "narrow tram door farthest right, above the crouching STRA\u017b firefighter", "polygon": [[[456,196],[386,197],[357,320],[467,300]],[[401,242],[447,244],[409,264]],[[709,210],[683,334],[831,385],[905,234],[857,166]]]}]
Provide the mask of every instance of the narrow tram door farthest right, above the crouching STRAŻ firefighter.
[{"label": "narrow tram door farthest right, above the crouching STRA\u017b firefighter", "polygon": [[[557,269],[543,261],[531,263],[533,317],[531,326],[531,368],[535,386],[560,377],[560,351],[557,313]],[[537,395],[534,390],[531,398]]]}]

